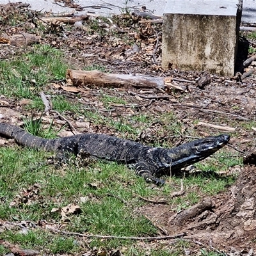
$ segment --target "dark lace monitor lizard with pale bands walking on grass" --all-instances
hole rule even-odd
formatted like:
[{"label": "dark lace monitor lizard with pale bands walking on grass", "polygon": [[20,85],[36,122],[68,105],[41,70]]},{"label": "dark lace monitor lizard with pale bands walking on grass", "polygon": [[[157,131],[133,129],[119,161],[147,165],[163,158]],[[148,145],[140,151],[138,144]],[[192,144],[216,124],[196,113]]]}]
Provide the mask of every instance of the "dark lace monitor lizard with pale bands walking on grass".
[{"label": "dark lace monitor lizard with pale bands walking on grass", "polygon": [[205,159],[225,146],[230,139],[227,134],[221,134],[184,143],[179,147],[156,148],[106,134],[78,134],[49,140],[4,123],[0,123],[0,134],[13,138],[19,145],[54,151],[59,159],[68,153],[124,163],[134,168],[136,174],[147,182],[156,184],[164,184],[164,180],[157,177]]}]

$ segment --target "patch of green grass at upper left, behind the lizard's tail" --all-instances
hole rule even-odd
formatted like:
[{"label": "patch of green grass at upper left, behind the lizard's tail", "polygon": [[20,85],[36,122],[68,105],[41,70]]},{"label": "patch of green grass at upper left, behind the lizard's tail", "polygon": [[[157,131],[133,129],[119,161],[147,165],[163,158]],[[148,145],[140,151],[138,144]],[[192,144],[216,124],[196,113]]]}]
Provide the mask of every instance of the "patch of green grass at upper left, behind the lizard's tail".
[{"label": "patch of green grass at upper left, behind the lizard's tail", "polygon": [[0,61],[0,93],[33,99],[52,79],[63,79],[68,68],[63,53],[48,45],[35,45],[19,58]]}]

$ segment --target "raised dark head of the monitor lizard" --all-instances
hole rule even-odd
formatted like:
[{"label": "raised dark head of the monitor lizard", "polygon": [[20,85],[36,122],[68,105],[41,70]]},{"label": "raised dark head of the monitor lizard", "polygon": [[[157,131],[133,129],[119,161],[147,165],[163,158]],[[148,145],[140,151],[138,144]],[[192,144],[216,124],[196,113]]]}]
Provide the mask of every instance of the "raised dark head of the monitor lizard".
[{"label": "raised dark head of the monitor lizard", "polygon": [[207,137],[201,140],[194,141],[194,147],[198,156],[209,156],[227,145],[230,140],[230,136],[227,134],[221,134],[219,136]]}]

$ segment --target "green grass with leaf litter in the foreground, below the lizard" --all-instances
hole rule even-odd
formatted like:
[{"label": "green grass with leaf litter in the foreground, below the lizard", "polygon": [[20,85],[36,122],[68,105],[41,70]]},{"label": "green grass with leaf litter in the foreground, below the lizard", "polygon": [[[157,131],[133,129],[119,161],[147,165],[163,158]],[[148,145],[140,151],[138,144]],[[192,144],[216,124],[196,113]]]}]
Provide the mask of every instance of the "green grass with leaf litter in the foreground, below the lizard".
[{"label": "green grass with leaf litter in the foreground, below the lizard", "polygon": [[[58,223],[61,216],[58,212],[51,212],[51,209],[76,202],[81,207],[81,213],[69,216],[70,222],[65,225],[65,230],[112,236],[155,236],[157,230],[152,223],[134,212],[138,205],[145,204],[138,201],[134,195],[148,198],[154,198],[154,196],[168,198],[174,190],[179,190],[180,179],[178,178],[171,178],[176,184],[175,186],[166,185],[163,188],[152,189],[142,178],[137,177],[133,171],[122,164],[92,161],[84,167],[77,168],[76,163],[70,163],[66,167],[55,169],[52,165],[44,164],[47,157],[51,155],[49,153],[15,147],[0,148],[0,154],[3,156],[0,159],[1,220],[29,220],[36,223],[38,220],[44,219],[49,223],[52,221]],[[228,164],[234,163],[226,164],[228,166]],[[189,192],[184,196],[170,199],[170,204],[176,211],[188,208],[202,198],[198,195],[198,191],[214,195],[221,189],[225,189],[227,184],[234,182],[234,179],[230,178],[230,180],[205,175],[195,177],[191,175],[184,179],[184,186]],[[38,191],[35,192],[35,195],[33,184],[38,184]],[[22,201],[24,198],[22,191],[26,191],[26,189],[31,189],[29,204]],[[20,200],[17,200],[17,195],[21,196]],[[87,196],[88,201],[80,202],[81,196]],[[10,207],[11,202],[16,202],[16,204]],[[10,239],[10,234],[13,234],[12,239]],[[51,244],[46,242],[49,237],[52,237]],[[0,239],[21,244],[24,248],[33,244],[33,248],[37,250],[44,247],[43,250],[47,252],[50,250],[52,253],[79,250],[79,243],[75,243],[74,238],[53,236],[40,229],[33,230],[26,237],[21,236],[17,231],[6,231],[1,234]],[[43,246],[44,244],[47,246]],[[125,245],[130,248],[131,252],[132,244],[135,245],[136,242],[95,238],[90,242],[92,248],[93,246],[118,248]],[[143,255],[142,252],[140,254],[138,248],[136,252],[138,255]],[[158,250],[155,255],[157,252]],[[159,250],[159,252],[161,252],[159,255],[167,255],[168,250]],[[127,255],[136,255],[136,253]],[[179,253],[173,255],[179,255]]]}]

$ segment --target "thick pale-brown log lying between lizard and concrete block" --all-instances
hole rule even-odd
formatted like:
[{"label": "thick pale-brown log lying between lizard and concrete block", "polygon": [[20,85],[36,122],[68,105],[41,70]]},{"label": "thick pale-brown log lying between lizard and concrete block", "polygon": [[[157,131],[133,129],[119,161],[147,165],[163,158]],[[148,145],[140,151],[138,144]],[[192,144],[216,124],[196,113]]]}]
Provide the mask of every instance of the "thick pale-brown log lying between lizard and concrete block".
[{"label": "thick pale-brown log lying between lizard and concrete block", "polygon": [[104,74],[98,70],[67,70],[66,78],[74,86],[164,88],[164,79],[162,77]]}]

